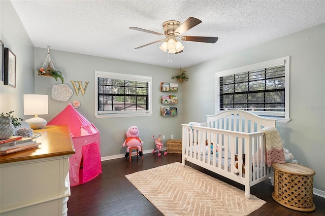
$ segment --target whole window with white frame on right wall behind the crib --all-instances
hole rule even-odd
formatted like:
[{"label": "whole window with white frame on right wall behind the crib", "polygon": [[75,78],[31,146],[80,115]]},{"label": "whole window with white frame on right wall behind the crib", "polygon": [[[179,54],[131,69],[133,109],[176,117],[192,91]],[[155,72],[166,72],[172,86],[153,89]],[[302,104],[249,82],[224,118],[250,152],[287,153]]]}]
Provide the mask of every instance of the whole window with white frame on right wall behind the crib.
[{"label": "whole window with white frame on right wall behind the crib", "polygon": [[245,110],[289,119],[289,56],[216,73],[217,112]]}]

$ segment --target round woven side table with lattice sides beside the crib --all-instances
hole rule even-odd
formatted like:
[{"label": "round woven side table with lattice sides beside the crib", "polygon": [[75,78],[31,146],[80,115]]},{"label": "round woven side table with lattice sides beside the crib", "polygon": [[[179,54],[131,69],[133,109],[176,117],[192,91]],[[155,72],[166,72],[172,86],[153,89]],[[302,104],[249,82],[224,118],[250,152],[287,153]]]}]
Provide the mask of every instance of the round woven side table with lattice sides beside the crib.
[{"label": "round woven side table with lattice sides beside the crib", "polygon": [[281,205],[298,211],[313,211],[313,176],[315,171],[294,163],[274,163],[272,197]]}]

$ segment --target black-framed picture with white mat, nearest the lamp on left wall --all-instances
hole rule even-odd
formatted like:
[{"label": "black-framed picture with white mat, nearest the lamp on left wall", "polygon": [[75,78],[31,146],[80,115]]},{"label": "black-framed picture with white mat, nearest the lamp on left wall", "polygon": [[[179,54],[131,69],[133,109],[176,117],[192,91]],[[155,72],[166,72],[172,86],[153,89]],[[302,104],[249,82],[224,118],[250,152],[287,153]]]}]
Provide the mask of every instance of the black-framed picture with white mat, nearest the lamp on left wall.
[{"label": "black-framed picture with white mat, nearest the lamp on left wall", "polygon": [[9,48],[4,53],[4,84],[16,88],[16,55]]}]

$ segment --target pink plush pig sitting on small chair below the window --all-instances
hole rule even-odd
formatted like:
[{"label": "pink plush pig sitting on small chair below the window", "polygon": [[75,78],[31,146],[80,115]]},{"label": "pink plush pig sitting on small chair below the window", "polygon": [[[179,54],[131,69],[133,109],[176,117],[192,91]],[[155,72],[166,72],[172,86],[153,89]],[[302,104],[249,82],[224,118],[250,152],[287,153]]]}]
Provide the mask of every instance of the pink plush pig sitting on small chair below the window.
[{"label": "pink plush pig sitting on small chair below the window", "polygon": [[126,139],[122,144],[123,147],[127,146],[125,158],[129,156],[131,147],[138,147],[139,155],[142,157],[141,146],[143,145],[143,141],[139,138],[139,134],[140,132],[137,126],[131,126],[126,130]]}]

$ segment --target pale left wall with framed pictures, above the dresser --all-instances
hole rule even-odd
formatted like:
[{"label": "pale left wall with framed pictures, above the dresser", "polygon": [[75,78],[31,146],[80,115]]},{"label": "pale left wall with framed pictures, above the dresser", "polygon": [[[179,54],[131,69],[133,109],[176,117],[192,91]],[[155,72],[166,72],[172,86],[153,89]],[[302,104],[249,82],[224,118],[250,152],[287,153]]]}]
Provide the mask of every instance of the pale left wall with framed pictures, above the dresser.
[{"label": "pale left wall with framed pictures, above the dresser", "polygon": [[16,88],[0,82],[0,113],[23,116],[23,94],[34,93],[34,45],[10,1],[0,1],[1,41],[16,55]]}]

